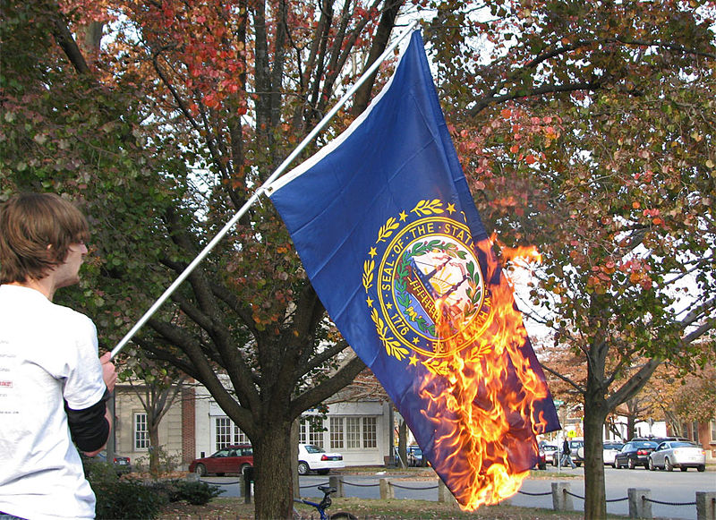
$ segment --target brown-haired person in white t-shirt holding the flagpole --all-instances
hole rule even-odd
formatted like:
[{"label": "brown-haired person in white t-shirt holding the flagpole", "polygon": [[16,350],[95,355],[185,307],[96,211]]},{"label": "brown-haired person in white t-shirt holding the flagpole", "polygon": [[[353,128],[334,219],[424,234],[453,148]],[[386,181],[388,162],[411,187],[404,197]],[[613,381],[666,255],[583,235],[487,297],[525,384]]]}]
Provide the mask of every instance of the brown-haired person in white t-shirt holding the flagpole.
[{"label": "brown-haired person in white t-shirt holding the flagpole", "polygon": [[90,318],[52,302],[79,282],[88,237],[55,194],[0,207],[0,519],[95,517],[80,452],[107,444],[117,376]]}]

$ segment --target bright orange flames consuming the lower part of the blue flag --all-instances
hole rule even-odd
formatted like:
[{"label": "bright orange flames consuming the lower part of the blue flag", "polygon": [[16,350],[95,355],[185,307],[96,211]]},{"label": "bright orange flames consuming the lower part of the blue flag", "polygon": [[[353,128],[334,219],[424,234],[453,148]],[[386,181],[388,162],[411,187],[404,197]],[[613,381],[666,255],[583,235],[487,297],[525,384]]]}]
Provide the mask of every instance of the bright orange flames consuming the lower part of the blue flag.
[{"label": "bright orange flames consuming the lower part of the blue flag", "polygon": [[[439,336],[450,338],[446,341],[455,348],[446,345],[452,353],[448,370],[440,377],[430,372],[420,386],[426,403],[422,413],[435,431],[432,465],[465,510],[496,504],[519,490],[536,460],[535,435],[546,427],[535,411],[540,406],[533,405],[549,396],[526,355],[530,346],[512,287],[491,254],[490,241],[477,245],[487,252],[489,264],[481,319],[456,335],[451,304],[436,303],[442,317]],[[539,257],[534,248],[524,251]],[[464,348],[465,342],[471,346]]]}]

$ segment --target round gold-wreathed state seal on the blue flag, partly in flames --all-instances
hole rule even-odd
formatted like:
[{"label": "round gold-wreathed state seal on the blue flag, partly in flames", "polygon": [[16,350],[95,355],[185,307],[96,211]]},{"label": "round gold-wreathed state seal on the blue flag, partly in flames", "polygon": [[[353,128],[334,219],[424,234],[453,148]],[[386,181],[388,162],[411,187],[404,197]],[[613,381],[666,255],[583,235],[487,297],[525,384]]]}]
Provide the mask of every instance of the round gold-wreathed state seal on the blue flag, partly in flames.
[{"label": "round gold-wreathed state seal on the blue flag, partly in flames", "polygon": [[473,237],[451,217],[455,212],[441,200],[421,200],[409,213],[389,217],[363,263],[371,319],[398,360],[412,352],[411,364],[430,360],[434,367],[436,359],[472,345],[486,321]]}]

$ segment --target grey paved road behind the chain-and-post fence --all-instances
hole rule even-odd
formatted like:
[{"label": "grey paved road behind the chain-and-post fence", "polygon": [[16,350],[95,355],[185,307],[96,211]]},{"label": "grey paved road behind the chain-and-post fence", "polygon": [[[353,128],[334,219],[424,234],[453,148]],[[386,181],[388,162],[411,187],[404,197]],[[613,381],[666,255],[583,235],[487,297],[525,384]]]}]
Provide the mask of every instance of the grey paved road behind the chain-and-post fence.
[{"label": "grey paved road behind the chain-and-post fence", "polygon": [[[539,507],[544,509],[552,508],[550,495],[533,496],[526,493],[547,493],[551,491],[551,482],[568,482],[570,490],[579,497],[584,497],[584,470],[564,470],[563,473],[573,473],[577,478],[549,478],[550,473],[555,470],[549,468],[543,473],[543,478],[531,478],[526,480],[522,489],[508,502],[519,507]],[[394,487],[396,499],[422,499],[437,500],[438,486],[435,480],[418,480],[411,478],[411,475],[386,475],[377,473],[345,474],[344,492],[348,497],[359,497],[364,499],[379,499],[379,480],[389,478],[396,484]],[[405,480],[407,479],[407,480]],[[204,477],[205,482],[212,482],[222,485],[226,490],[222,496],[239,496],[239,485],[237,477]],[[320,497],[322,494],[316,489],[320,484],[328,483],[328,476],[306,475],[300,479],[301,495],[305,498]],[[617,470],[610,467],[605,468],[605,483],[607,499],[624,499],[626,490],[629,488],[651,490],[652,500],[670,503],[695,502],[695,491],[716,491],[716,472],[708,471],[698,473],[689,470],[686,473],[679,471],[668,473],[663,471],[650,472],[645,469]],[[404,489],[409,488],[409,489]],[[583,510],[584,500],[573,498],[575,509]],[[607,511],[615,515],[628,516],[628,504],[626,500],[609,502]],[[657,518],[674,518],[684,520],[695,520],[696,507],[668,506],[652,503],[652,514]]]}]

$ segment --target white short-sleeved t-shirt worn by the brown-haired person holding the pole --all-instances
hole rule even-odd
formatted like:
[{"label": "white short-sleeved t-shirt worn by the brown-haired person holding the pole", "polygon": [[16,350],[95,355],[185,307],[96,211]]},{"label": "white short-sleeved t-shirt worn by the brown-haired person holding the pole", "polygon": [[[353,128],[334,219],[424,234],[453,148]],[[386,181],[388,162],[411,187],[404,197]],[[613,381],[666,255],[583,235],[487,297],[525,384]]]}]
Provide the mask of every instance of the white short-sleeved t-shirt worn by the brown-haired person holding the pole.
[{"label": "white short-sleeved t-shirt worn by the brown-haired person holding the pole", "polygon": [[0,286],[0,511],[94,518],[63,398],[82,410],[106,389],[87,316],[34,289]]}]

